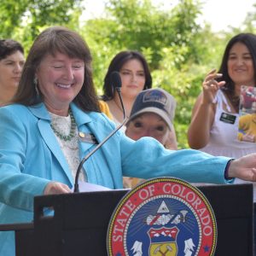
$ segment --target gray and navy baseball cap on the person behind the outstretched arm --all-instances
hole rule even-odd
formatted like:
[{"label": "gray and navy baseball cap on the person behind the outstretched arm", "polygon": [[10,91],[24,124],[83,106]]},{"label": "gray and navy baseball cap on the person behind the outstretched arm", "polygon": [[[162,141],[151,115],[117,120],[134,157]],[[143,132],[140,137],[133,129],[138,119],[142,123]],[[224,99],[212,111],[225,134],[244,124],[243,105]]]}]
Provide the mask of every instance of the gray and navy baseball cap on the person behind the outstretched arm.
[{"label": "gray and navy baseball cap on the person behind the outstretched arm", "polygon": [[176,101],[166,90],[160,88],[142,90],[133,103],[129,121],[136,118],[141,113],[156,113],[164,119],[169,128],[172,129],[175,108]]}]

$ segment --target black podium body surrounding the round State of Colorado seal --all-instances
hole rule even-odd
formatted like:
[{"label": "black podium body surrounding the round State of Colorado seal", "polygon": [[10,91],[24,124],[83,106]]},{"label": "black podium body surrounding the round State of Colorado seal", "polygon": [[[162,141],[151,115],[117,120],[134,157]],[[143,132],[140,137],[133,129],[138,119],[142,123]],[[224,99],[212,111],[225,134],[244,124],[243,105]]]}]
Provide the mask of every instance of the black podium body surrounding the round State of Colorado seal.
[{"label": "black podium body surrounding the round State of Colorado seal", "polygon": [[[215,255],[253,255],[253,185],[198,187],[218,226]],[[33,224],[3,224],[15,230],[16,256],[106,256],[108,222],[127,190],[37,196]],[[54,216],[44,216],[47,207]]]}]

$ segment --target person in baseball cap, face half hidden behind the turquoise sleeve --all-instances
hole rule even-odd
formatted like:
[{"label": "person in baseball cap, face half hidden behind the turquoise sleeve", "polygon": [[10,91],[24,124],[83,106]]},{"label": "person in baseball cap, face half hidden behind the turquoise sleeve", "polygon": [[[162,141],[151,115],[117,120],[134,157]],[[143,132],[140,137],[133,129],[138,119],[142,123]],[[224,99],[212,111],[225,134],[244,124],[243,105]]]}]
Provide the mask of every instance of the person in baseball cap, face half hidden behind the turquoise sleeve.
[{"label": "person in baseball cap, face half hidden behind the turquoise sleeve", "polygon": [[[160,88],[142,90],[133,103],[125,134],[133,140],[154,137],[166,148],[177,149],[177,138],[172,125],[176,101]],[[124,187],[133,188],[141,179],[124,177]]]}]

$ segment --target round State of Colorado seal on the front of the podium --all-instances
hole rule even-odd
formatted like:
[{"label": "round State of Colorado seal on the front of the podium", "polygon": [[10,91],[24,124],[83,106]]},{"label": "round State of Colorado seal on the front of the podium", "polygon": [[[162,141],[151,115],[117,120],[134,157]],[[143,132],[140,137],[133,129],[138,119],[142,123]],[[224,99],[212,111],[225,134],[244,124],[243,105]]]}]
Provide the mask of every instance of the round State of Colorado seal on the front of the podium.
[{"label": "round State of Colorado seal on the front of the podium", "polygon": [[216,220],[205,195],[172,177],[131,189],[108,225],[110,256],[208,256],[216,241]]}]

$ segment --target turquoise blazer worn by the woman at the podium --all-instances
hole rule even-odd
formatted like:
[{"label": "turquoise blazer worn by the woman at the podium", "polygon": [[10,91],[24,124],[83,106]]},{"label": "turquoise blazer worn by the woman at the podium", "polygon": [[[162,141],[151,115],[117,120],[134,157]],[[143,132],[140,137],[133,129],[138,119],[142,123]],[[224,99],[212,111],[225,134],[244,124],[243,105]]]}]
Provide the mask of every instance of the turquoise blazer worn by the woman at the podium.
[{"label": "turquoise blazer worn by the woman at the podium", "polygon": [[[98,142],[115,128],[103,113],[84,113],[71,104],[79,131],[90,131]],[[93,147],[79,141],[80,160]],[[118,131],[84,163],[89,183],[122,188],[122,176],[180,177],[189,182],[227,183],[229,158],[212,157],[192,149],[167,150],[153,138],[137,142]],[[33,199],[50,181],[73,187],[67,160],[50,127],[44,103],[0,108],[0,224],[31,222]],[[15,255],[14,232],[0,232],[0,255]]]}]

